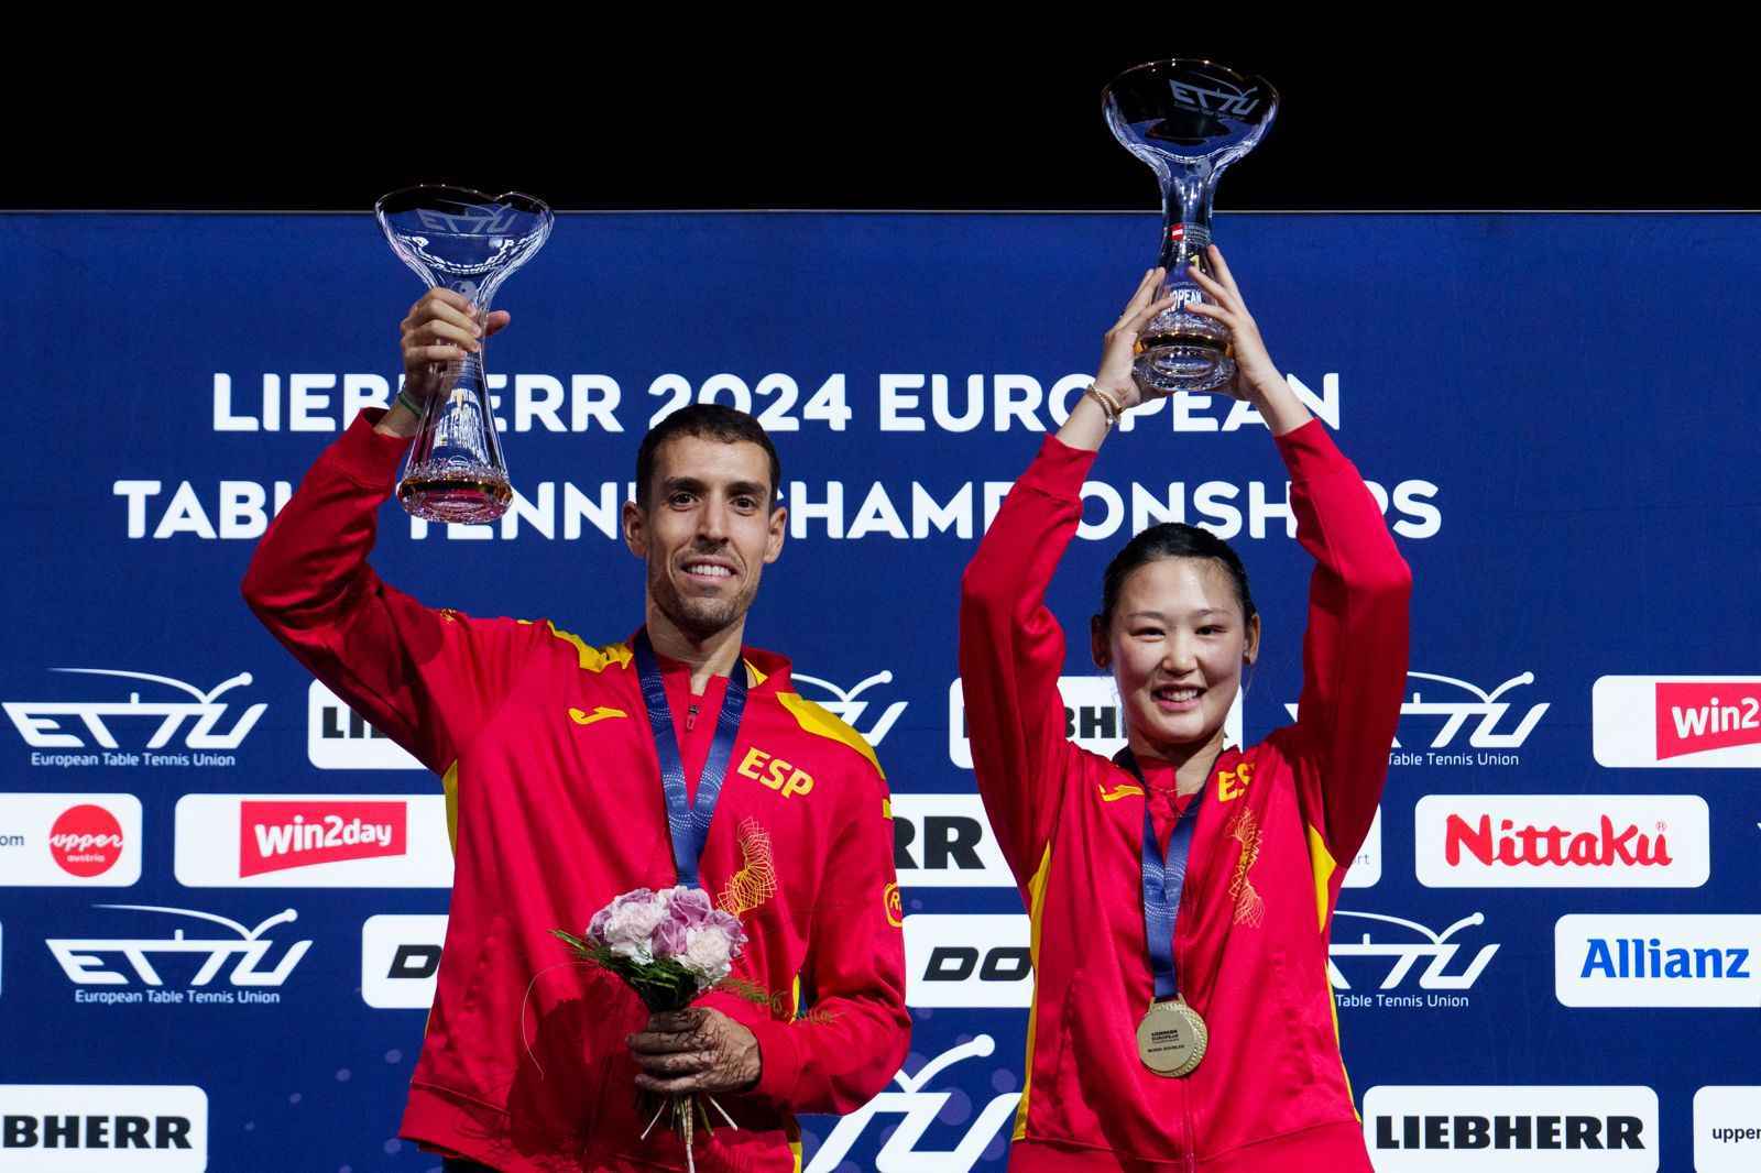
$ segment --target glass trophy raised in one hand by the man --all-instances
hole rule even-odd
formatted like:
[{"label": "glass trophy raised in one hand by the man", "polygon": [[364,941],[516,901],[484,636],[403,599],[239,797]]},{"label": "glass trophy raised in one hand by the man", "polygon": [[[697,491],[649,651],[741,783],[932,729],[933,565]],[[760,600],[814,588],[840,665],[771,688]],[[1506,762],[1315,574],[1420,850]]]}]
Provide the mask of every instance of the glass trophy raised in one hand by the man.
[{"label": "glass trophy raised in one hand by the man", "polygon": [[[407,187],[384,196],[373,213],[391,250],[430,289],[463,294],[479,326],[495,291],[544,247],[551,229],[549,208],[519,192]],[[423,405],[398,500],[428,521],[493,521],[514,490],[490,414],[483,350],[447,363],[437,386]]]}]

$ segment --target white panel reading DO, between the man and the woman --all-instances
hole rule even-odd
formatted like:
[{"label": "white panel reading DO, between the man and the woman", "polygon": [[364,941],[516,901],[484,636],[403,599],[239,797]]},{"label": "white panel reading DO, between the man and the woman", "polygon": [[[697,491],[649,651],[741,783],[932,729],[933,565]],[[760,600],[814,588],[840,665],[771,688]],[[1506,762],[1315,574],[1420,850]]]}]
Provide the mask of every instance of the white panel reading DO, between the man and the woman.
[{"label": "white panel reading DO, between the man and the woman", "polygon": [[1018,912],[905,918],[905,1006],[1027,1007],[1030,928]]}]

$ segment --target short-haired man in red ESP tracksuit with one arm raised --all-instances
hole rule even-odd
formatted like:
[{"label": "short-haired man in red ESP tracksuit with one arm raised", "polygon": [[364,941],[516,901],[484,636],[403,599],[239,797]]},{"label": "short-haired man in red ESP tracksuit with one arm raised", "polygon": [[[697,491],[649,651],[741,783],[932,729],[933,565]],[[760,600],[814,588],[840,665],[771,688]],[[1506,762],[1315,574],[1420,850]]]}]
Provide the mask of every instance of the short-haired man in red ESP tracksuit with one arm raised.
[{"label": "short-haired man in red ESP tracksuit with one arm raised", "polygon": [[[505,322],[430,291],[403,321],[398,405],[363,412],[319,456],[243,585],[301,664],[442,775],[456,881],[402,1136],[456,1168],[683,1169],[664,1127],[639,1140],[636,1090],[703,1090],[740,1127],[699,1132],[699,1169],[799,1169],[794,1113],[868,1101],[903,1060],[910,1018],[879,761],[791,689],[787,659],[743,646],[784,541],[775,449],[720,407],[648,435],[623,514],[646,562],[646,615],[623,643],[426,608],[366,562],[417,424],[407,398],[435,393],[440,365]],[[650,727],[662,708],[645,699],[643,641],[676,750],[666,720]],[[745,706],[729,750],[731,689]],[[622,981],[571,963],[551,930],[581,933],[616,895],[678,882],[660,768],[667,752],[682,759],[696,801],[711,743],[726,780],[701,886],[748,935],[738,993],[650,1020]]]}]

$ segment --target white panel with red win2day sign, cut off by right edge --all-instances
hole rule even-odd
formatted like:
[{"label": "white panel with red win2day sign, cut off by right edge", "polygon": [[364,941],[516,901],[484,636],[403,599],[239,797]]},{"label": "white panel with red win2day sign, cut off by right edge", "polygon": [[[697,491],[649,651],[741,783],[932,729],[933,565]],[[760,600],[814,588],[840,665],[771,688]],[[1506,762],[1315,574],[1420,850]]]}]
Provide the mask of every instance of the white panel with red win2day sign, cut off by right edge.
[{"label": "white panel with red win2day sign, cut off by right edge", "polygon": [[1601,676],[1595,761],[1638,770],[1761,770],[1761,676]]}]

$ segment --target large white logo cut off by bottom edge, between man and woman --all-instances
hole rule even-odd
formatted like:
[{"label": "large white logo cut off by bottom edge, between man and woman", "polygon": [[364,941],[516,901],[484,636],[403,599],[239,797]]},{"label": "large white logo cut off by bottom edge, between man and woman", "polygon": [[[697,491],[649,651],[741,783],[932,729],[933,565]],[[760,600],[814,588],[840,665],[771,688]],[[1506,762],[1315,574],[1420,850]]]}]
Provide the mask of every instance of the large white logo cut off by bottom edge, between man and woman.
[{"label": "large white logo cut off by bottom edge, between man and woman", "polygon": [[[923,1141],[925,1132],[937,1127],[937,1120],[942,1118],[954,1096],[953,1092],[933,1092],[930,1090],[930,1083],[954,1064],[967,1059],[986,1059],[995,1050],[997,1043],[988,1034],[981,1034],[928,1060],[917,1069],[916,1076],[900,1071],[893,1076],[893,1083],[898,1085],[896,1092],[880,1092],[856,1111],[838,1118],[831,1134],[826,1136],[826,1143],[814,1154],[807,1173],[835,1173],[835,1169],[844,1168],[851,1148],[856,1147],[856,1141],[875,1117],[903,1117],[886,1132],[886,1140],[875,1154],[877,1169],[893,1173],[909,1169],[969,1173],[977,1168],[984,1150],[997,1140],[1009,1117],[1014,1115],[1016,1103],[1021,1099],[1020,1092],[1002,1092],[984,1104],[972,1127],[967,1129],[965,1136],[953,1148],[933,1152],[917,1148],[917,1145]],[[960,1120],[963,1118],[962,1115]]]}]

